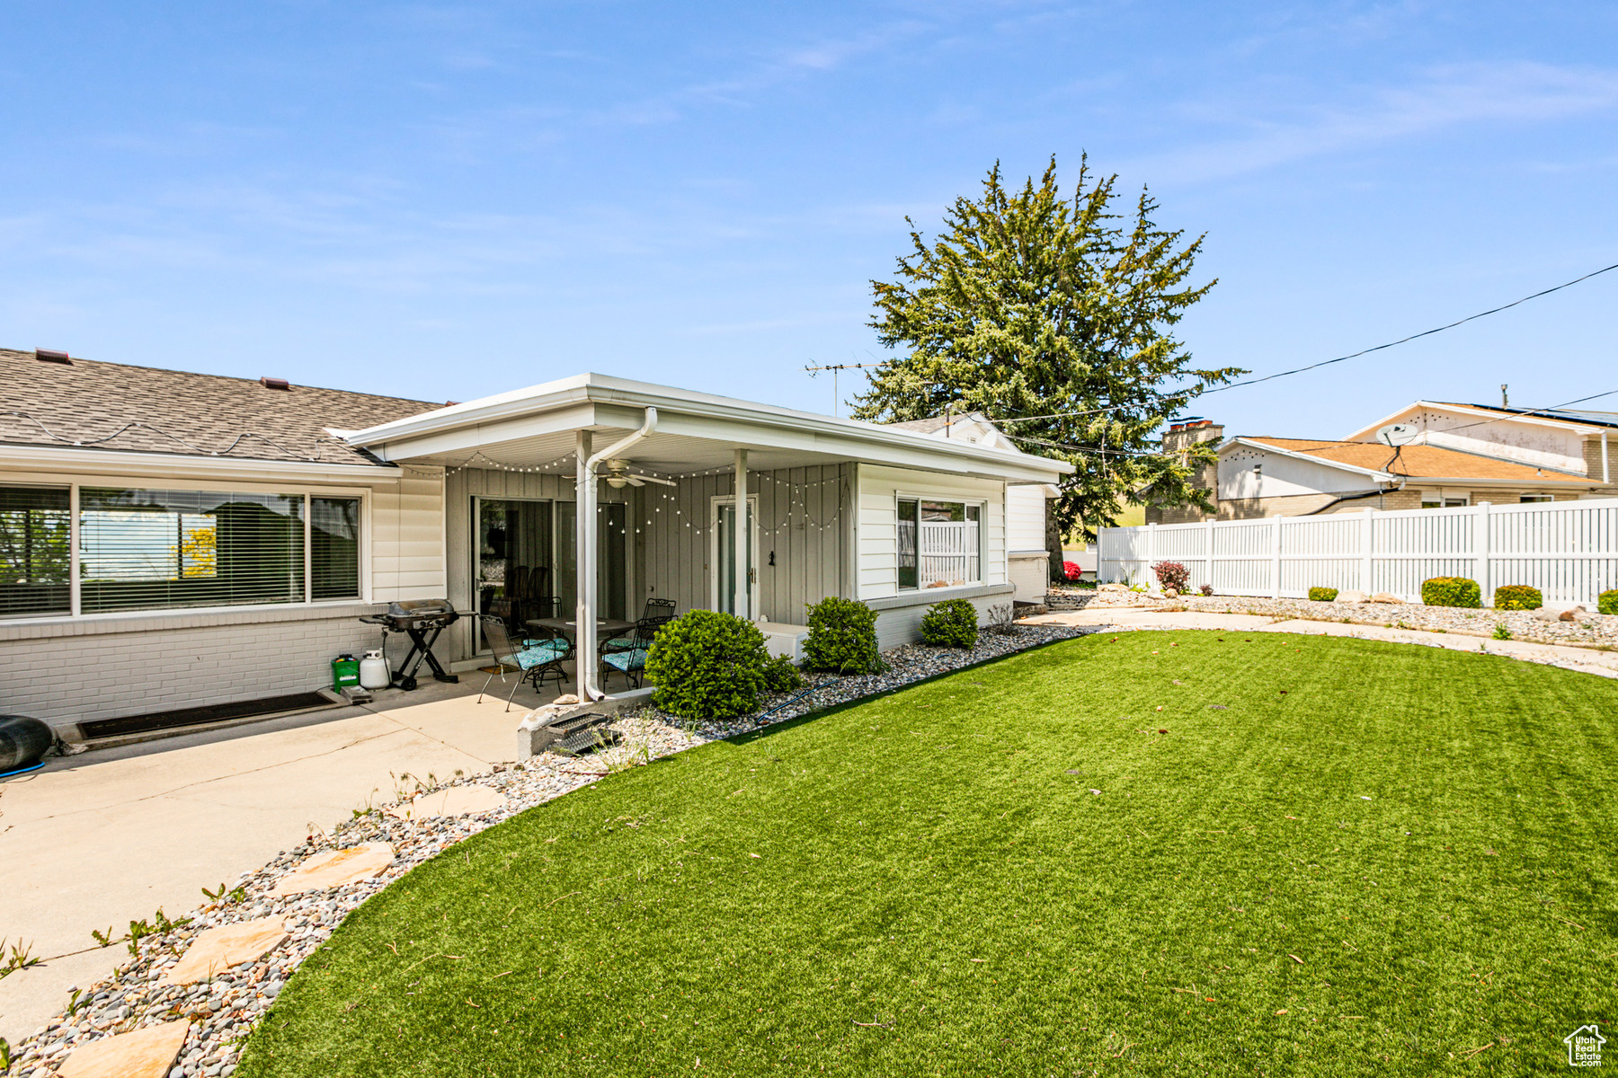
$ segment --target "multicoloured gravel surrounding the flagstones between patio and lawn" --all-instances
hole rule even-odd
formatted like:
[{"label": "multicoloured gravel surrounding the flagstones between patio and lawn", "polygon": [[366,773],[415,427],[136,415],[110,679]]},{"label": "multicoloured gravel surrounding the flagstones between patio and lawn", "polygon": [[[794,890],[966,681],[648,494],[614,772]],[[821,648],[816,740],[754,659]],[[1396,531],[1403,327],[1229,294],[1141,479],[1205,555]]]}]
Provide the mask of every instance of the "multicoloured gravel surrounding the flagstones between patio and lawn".
[{"label": "multicoloured gravel surrounding the flagstones between patio and lawn", "polygon": [[[1011,625],[1005,632],[984,632],[977,646],[971,650],[906,645],[882,655],[888,664],[882,674],[809,676],[807,692],[773,697],[760,711],[738,719],[689,724],[646,705],[613,719],[612,727],[623,740],[605,752],[584,758],[547,752],[523,763],[495,764],[487,774],[456,777],[438,787],[419,784],[419,790],[487,785],[503,794],[508,803],[477,816],[424,819],[395,819],[385,815],[382,806],[369,806],[366,811],[356,811],[353,819],[337,824],[328,834],[311,834],[264,868],[244,873],[236,882],[238,891],[233,892],[238,895],[236,900],[227,895],[223,900],[204,903],[191,910],[186,918],[180,918],[183,924],[178,928],[142,937],[134,945],[136,954],[131,960],[112,978],[76,992],[78,1004],[73,1010],[58,1015],[13,1046],[11,1067],[0,1073],[16,1078],[55,1075],[76,1047],[116,1033],[188,1018],[191,1031],[168,1078],[230,1078],[236,1070],[241,1041],[270,1013],[282,986],[303,960],[314,954],[362,902],[456,842],[527,808],[591,785],[615,771],[1045,643],[1102,630],[1099,625]],[[401,800],[406,794],[416,792],[416,789],[400,790]],[[311,855],[364,842],[388,842],[395,850],[393,865],[375,879],[303,895],[270,894],[285,874]],[[283,918],[288,937],[251,968],[238,966],[196,984],[157,984],[197,933],[262,916]]]}]

